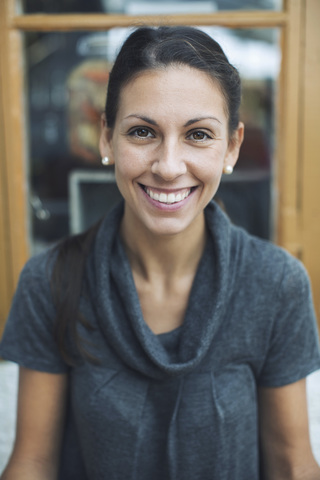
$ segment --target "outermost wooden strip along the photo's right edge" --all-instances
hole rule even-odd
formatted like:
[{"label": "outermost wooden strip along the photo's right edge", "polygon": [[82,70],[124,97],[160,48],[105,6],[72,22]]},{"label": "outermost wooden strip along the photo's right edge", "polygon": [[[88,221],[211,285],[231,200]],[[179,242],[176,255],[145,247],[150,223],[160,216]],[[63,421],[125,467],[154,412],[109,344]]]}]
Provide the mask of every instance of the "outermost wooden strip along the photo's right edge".
[{"label": "outermost wooden strip along the photo's right edge", "polygon": [[313,285],[320,331],[320,2],[307,0],[307,6],[300,99],[300,240],[302,260]]}]

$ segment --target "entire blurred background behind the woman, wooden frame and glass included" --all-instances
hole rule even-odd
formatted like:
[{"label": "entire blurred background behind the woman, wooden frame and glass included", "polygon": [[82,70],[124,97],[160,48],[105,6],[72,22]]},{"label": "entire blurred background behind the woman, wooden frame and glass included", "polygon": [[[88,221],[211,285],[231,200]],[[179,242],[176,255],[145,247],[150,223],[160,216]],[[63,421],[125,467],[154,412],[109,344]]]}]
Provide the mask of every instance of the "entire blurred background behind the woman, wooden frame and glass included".
[{"label": "entire blurred background behind the woman, wooden frame and glass included", "polygon": [[[198,26],[239,70],[245,141],[217,196],[234,223],[304,262],[319,316],[319,21],[318,0],[1,0],[0,335],[27,258],[120,198],[100,116],[119,46],[142,23]],[[16,380],[0,363],[0,472]],[[320,461],[319,375],[308,392]]]}]

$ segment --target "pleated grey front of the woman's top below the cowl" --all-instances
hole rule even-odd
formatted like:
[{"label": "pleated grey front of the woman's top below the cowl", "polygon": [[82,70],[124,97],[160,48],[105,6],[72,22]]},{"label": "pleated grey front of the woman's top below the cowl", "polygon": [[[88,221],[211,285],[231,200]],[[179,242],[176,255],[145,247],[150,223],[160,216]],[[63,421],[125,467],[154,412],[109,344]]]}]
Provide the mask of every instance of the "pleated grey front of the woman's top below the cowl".
[{"label": "pleated grey front of the woman's top below the cowl", "polygon": [[89,478],[102,472],[108,478],[258,478],[255,382],[246,365],[160,382],[123,369],[84,368],[72,387]]}]

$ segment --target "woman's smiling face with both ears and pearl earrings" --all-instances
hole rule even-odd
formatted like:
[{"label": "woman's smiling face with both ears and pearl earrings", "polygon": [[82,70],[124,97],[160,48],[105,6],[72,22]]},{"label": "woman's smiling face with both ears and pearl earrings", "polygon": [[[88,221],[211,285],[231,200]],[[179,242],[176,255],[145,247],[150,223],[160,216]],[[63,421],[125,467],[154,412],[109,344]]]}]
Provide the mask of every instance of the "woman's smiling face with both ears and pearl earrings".
[{"label": "woman's smiling face with both ears and pearl earrings", "polygon": [[188,66],[146,71],[123,88],[100,150],[115,164],[128,226],[172,235],[203,222],[242,141],[240,126],[229,142],[225,110],[218,86]]}]

